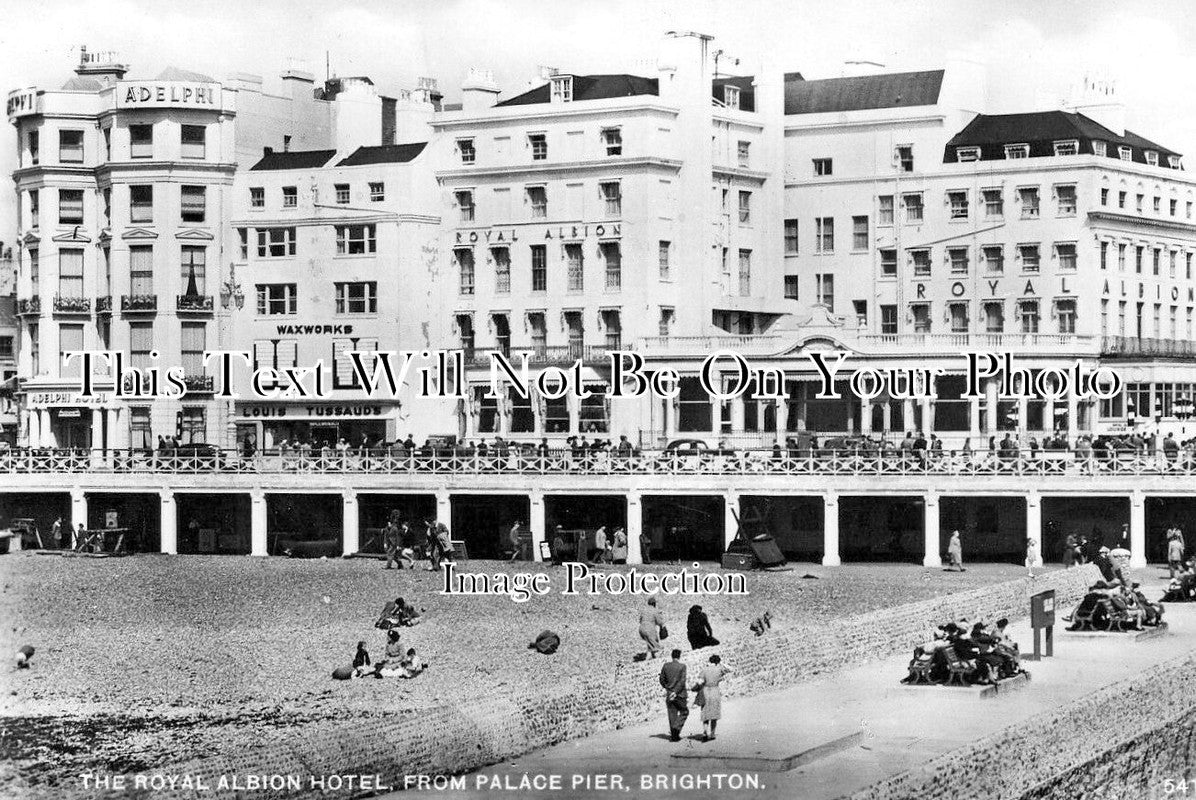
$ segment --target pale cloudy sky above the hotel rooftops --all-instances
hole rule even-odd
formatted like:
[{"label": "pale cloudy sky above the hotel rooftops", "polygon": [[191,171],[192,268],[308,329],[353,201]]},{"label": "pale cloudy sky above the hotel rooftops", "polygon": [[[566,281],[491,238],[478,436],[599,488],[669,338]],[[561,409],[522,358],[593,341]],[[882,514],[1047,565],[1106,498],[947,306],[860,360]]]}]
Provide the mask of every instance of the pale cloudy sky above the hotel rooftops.
[{"label": "pale cloudy sky above the hotel rooftops", "polygon": [[[269,88],[292,61],[322,79],[327,57],[334,75],[370,75],[384,94],[437,78],[454,102],[470,67],[509,96],[541,66],[631,72],[666,31],[713,35],[720,67],[745,74],[761,59],[806,78],[843,74],[850,60],[885,71],[975,61],[993,114],[1058,108],[1099,75],[1116,81],[1131,130],[1196,169],[1191,0],[0,0],[0,87],[57,88],[86,45],[120,51],[130,78],[172,65],[256,73]],[[14,166],[4,126],[0,171]],[[6,184],[5,242],[13,208]]]}]

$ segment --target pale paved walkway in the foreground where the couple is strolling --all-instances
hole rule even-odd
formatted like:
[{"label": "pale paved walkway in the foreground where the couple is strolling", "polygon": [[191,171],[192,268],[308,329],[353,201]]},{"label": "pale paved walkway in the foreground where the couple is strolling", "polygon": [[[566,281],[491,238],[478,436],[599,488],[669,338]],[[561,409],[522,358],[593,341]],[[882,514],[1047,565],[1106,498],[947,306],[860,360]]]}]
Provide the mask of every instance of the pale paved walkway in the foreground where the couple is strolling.
[{"label": "pale paved walkway in the foreground where the couple is strolling", "polygon": [[[1157,600],[1166,586],[1166,570],[1139,569],[1134,580]],[[1054,658],[1025,661],[1031,679],[995,696],[981,697],[975,689],[903,685],[910,655],[901,653],[847,665],[782,691],[725,696],[718,738],[710,743],[701,740],[696,708],[683,740],[669,741],[661,700],[659,721],[533,751],[459,776],[456,784],[441,780],[439,787],[420,789],[419,776],[410,776],[407,790],[385,796],[490,798],[518,792],[578,799],[832,800],[1179,658],[1196,645],[1196,604],[1168,604],[1167,634],[1141,640],[1133,634],[1073,636],[1062,622],[1069,612],[1056,610]],[[928,619],[928,629],[939,622]],[[1011,624],[1011,631],[1023,653],[1032,652],[1029,618]],[[733,690],[733,684],[732,674],[725,685]],[[687,757],[673,758],[678,753]],[[773,771],[785,767],[792,768]]]}]

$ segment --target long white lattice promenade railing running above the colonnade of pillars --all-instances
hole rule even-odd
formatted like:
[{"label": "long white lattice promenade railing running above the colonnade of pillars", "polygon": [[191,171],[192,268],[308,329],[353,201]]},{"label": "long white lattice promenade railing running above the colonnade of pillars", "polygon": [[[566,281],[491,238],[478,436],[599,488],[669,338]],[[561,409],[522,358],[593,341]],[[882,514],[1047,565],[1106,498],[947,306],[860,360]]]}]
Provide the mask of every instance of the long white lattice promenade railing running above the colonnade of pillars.
[{"label": "long white lattice promenade railing running above the colonnade of pillars", "polygon": [[463,448],[336,451],[200,450],[25,450],[0,451],[0,474],[146,472],[146,474],[386,474],[386,475],[715,475],[715,476],[963,476],[977,483],[995,476],[1100,481],[1118,476],[1196,476],[1196,453],[1116,454],[1072,451],[1007,453],[850,451],[737,452],[666,450],[536,451],[509,447],[484,454]]}]

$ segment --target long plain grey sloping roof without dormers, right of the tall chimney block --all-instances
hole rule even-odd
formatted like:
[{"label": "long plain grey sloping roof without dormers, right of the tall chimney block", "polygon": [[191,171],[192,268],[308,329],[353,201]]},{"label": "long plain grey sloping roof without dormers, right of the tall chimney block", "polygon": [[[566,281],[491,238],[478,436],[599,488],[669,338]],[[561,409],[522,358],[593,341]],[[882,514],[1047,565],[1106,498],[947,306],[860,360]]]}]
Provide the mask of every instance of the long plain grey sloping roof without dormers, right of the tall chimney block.
[{"label": "long plain grey sloping roof without dormers, right of the tall chimney block", "polygon": [[788,73],[785,75],[785,112],[828,114],[934,105],[941,88],[942,69],[823,80],[804,80],[800,73]]}]

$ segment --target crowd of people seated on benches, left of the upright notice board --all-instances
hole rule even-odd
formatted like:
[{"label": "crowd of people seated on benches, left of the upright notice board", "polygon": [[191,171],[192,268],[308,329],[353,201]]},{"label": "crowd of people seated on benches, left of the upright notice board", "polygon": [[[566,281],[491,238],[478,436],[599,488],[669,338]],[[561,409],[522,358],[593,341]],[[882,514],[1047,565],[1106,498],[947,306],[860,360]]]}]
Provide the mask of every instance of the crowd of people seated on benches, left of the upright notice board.
[{"label": "crowd of people seated on benches, left of the upright notice board", "polygon": [[929,641],[914,648],[903,683],[947,683],[958,673],[960,683],[995,684],[1025,672],[1008,624],[1001,618],[993,625],[968,619],[939,625]]}]

